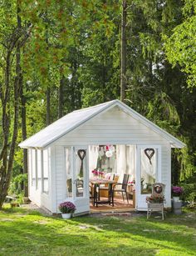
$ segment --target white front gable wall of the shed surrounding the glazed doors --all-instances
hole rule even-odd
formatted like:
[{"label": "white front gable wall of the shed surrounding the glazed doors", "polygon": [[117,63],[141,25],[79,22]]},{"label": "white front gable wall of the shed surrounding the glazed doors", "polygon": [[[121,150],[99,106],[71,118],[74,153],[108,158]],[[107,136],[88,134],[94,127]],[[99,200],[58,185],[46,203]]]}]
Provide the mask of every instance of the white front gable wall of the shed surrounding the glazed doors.
[{"label": "white front gable wall of the shed surrounding the glazed doors", "polygon": [[[112,108],[100,113],[95,118],[82,124],[79,128],[68,133],[54,143],[55,172],[56,172],[56,208],[65,196],[65,170],[63,169],[63,147],[95,144],[131,144],[131,145],[160,145],[162,149],[162,182],[166,184],[166,207],[170,202],[170,161],[171,149],[167,140],[155,133],[135,118]],[[54,207],[54,204],[53,204]]]}]

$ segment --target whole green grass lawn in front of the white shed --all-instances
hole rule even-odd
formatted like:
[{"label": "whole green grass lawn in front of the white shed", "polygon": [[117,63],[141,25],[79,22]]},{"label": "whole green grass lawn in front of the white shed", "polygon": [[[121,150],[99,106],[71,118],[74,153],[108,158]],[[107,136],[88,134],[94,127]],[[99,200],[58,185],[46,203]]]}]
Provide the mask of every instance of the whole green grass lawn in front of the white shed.
[{"label": "whole green grass lawn in front of the white shed", "polygon": [[44,217],[25,208],[0,211],[0,255],[196,255],[196,213]]}]

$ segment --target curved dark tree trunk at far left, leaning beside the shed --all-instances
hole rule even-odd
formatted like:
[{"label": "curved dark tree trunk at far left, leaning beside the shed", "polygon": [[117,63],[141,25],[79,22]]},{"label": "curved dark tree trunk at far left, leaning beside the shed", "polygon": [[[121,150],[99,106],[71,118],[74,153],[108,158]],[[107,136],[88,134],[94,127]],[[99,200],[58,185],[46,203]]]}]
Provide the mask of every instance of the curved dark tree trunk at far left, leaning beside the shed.
[{"label": "curved dark tree trunk at far left, leaning beside the shed", "polygon": [[[21,18],[19,16],[20,8],[17,6],[17,29],[21,28]],[[18,33],[19,34],[19,33]],[[15,152],[15,146],[17,141],[17,130],[18,130],[18,116],[19,116],[19,91],[22,84],[22,70],[21,70],[21,42],[20,37],[16,38],[16,33],[13,31],[10,34],[11,43],[7,46],[7,58],[6,58],[6,68],[5,68],[5,88],[4,93],[1,88],[1,100],[2,100],[2,137],[3,146],[2,152],[0,153],[0,208],[2,208],[2,203],[4,202],[7,191],[9,188],[9,183],[12,174],[12,165]],[[11,142],[8,143],[9,133],[10,133],[10,93],[11,93],[11,57],[12,52],[16,48],[16,77],[13,83],[13,95],[14,95],[14,108],[13,108],[13,128]],[[8,153],[9,150],[9,153]]]}]

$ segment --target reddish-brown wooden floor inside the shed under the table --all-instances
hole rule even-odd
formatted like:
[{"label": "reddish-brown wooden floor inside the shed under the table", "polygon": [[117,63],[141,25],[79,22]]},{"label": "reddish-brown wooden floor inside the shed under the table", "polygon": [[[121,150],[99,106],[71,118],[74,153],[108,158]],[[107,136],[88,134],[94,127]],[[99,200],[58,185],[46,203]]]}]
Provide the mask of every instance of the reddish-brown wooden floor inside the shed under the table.
[{"label": "reddish-brown wooden floor inside the shed under the table", "polygon": [[[101,200],[106,200],[107,198],[100,198]],[[112,207],[112,205],[109,204],[98,204],[98,207],[93,206],[92,201],[90,204],[91,207],[91,213],[105,213],[105,212],[110,212],[110,213],[120,213],[120,212],[130,212],[135,210],[133,207],[133,200],[129,199],[129,204],[125,200],[123,201],[122,198],[120,197],[115,197],[114,198],[115,205]]]}]

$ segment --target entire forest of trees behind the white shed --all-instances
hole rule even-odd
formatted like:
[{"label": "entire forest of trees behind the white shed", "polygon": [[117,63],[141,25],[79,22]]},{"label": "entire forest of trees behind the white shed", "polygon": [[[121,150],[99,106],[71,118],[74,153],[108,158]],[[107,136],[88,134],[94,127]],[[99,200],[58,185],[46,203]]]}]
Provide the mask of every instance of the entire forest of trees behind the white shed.
[{"label": "entire forest of trees behind the white shed", "polygon": [[18,143],[75,109],[120,98],[187,144],[172,183],[196,197],[196,1],[0,1],[0,208],[27,195]]}]

